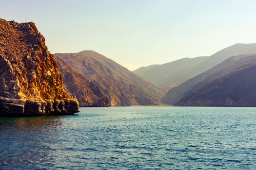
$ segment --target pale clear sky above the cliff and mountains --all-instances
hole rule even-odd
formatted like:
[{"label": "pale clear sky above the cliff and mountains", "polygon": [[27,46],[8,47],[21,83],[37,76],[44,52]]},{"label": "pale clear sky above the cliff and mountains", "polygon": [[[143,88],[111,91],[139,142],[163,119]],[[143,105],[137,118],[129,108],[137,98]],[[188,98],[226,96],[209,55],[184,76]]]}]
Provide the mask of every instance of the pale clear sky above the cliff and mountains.
[{"label": "pale clear sky above the cliff and mountains", "polygon": [[256,0],[0,0],[51,53],[93,50],[134,70],[256,43]]}]

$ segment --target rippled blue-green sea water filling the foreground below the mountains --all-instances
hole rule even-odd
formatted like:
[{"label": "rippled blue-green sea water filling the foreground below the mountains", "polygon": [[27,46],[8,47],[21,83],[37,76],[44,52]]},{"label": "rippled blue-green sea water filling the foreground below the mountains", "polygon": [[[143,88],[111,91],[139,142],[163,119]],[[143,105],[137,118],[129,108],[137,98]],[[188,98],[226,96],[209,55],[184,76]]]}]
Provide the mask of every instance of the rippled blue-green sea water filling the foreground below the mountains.
[{"label": "rippled blue-green sea water filling the foreground below the mountains", "polygon": [[0,118],[0,169],[256,169],[256,108],[80,108]]}]

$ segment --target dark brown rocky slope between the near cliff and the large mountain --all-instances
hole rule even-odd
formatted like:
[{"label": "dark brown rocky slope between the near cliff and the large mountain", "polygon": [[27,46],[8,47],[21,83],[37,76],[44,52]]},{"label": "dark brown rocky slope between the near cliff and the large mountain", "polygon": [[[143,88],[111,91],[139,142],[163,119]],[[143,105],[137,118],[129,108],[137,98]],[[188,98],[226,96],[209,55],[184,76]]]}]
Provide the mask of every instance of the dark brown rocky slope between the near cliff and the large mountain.
[{"label": "dark brown rocky slope between the near cliff and the large mountain", "polygon": [[58,56],[54,57],[63,76],[66,91],[78,100],[80,106],[109,106],[109,98],[97,85],[74,71]]}]

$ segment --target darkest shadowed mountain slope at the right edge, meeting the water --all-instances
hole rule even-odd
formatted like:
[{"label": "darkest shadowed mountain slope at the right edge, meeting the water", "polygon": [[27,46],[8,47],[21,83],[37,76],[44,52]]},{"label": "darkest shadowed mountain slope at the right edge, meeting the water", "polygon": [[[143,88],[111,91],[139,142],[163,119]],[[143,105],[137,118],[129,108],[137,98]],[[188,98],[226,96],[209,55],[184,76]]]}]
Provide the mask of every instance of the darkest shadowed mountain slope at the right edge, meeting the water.
[{"label": "darkest shadowed mountain slope at the right edge, meeting the water", "polygon": [[180,106],[256,106],[256,66],[241,68],[182,98]]}]

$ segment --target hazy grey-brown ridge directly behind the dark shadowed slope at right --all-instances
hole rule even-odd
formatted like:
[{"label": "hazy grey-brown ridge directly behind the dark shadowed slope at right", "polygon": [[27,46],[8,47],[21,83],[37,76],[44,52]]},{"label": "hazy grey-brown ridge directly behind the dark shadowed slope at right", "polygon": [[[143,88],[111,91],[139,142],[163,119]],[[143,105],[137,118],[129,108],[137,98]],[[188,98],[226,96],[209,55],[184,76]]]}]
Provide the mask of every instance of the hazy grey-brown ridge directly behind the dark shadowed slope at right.
[{"label": "hazy grey-brown ridge directly behind the dark shadowed slope at right", "polygon": [[256,65],[256,55],[246,54],[233,56],[223,61],[217,66],[197,75],[196,77],[182,83],[181,85],[169,90],[162,98],[162,102],[177,104],[183,97],[194,93],[199,88],[211,83],[212,81],[235,72],[245,66]]}]

